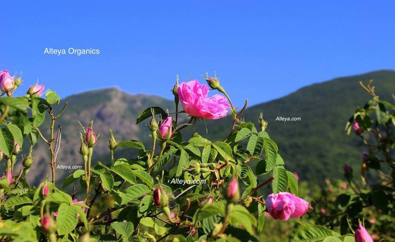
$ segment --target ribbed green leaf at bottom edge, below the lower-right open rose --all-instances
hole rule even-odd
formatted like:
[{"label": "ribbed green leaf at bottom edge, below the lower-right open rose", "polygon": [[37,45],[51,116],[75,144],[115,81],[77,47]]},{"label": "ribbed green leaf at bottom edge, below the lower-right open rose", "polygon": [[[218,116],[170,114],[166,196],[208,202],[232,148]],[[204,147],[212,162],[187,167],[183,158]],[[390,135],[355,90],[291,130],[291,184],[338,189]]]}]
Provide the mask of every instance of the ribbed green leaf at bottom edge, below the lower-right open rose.
[{"label": "ribbed green leaf at bottom edge, below the lower-right open rose", "polygon": [[296,232],[294,242],[316,242],[327,237],[334,236],[334,233],[327,228],[319,226],[305,226]]}]

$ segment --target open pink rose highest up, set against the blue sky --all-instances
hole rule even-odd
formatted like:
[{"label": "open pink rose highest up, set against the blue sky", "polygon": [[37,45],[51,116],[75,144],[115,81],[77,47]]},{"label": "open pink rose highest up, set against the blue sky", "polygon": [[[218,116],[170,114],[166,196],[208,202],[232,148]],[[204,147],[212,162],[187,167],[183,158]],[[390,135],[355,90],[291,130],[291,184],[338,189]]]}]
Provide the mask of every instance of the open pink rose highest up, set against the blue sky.
[{"label": "open pink rose highest up, set against the blue sky", "polygon": [[197,80],[182,82],[178,87],[178,95],[184,111],[194,117],[207,120],[224,118],[228,113],[228,100],[220,94],[207,98],[208,87]]}]

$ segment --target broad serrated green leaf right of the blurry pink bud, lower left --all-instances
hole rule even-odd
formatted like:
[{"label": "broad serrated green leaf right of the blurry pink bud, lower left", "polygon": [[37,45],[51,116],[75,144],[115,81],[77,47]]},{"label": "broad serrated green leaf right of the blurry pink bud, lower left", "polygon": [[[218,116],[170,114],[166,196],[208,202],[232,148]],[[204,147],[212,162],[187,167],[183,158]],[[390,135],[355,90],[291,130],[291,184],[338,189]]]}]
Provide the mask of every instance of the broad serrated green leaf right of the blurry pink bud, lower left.
[{"label": "broad serrated green leaf right of the blurry pink bud, lower left", "polygon": [[74,205],[62,203],[56,216],[56,225],[59,235],[67,235],[76,228],[78,223],[77,208]]}]

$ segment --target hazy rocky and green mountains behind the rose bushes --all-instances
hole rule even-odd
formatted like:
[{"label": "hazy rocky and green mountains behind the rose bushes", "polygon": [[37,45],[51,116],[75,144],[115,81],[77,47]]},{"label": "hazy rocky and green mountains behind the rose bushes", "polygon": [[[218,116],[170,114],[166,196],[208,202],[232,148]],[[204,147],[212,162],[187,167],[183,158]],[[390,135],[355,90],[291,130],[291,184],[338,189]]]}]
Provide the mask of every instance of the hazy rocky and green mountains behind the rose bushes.
[{"label": "hazy rocky and green mountains behind the rose bushes", "polygon": [[[259,113],[264,113],[264,119],[269,122],[267,131],[277,143],[287,168],[297,171],[303,180],[322,183],[325,178],[340,178],[345,163],[360,164],[362,144],[355,135],[346,135],[344,127],[356,107],[363,106],[370,98],[358,84],[358,81],[369,80],[374,80],[376,93],[382,99],[394,101],[391,94],[395,92],[395,71],[377,71],[303,87],[285,97],[249,107],[243,118],[257,124]],[[223,85],[226,87],[226,83]],[[264,86],[260,88],[264,90]],[[96,134],[100,133],[100,137],[95,146],[93,161],[107,163],[110,128],[113,129],[117,141],[139,139],[150,147],[150,132],[145,127],[148,121],[136,125],[138,113],[150,106],[174,111],[172,100],[144,94],[131,95],[118,88],[70,96],[62,100],[58,111],[65,102],[69,102],[69,105],[64,115],[57,120],[63,128],[57,159],[57,164],[62,165],[83,165],[78,154],[81,130],[78,121],[86,126],[88,121],[94,120],[94,130]],[[301,120],[276,121],[277,117],[300,117]],[[189,127],[184,130],[187,135],[197,131],[213,140],[222,140],[230,131],[232,118],[206,121],[206,124],[207,134],[201,123],[190,131],[187,131]],[[46,120],[41,129],[47,130],[48,126],[49,122]],[[117,149],[116,157],[131,158],[135,154],[133,152],[133,149]],[[34,169],[29,173],[34,184],[45,179],[43,174],[50,174],[47,153],[46,145],[40,141],[34,153]],[[252,162],[251,164],[254,165]],[[58,184],[63,183],[64,178],[73,171],[57,169]]]}]

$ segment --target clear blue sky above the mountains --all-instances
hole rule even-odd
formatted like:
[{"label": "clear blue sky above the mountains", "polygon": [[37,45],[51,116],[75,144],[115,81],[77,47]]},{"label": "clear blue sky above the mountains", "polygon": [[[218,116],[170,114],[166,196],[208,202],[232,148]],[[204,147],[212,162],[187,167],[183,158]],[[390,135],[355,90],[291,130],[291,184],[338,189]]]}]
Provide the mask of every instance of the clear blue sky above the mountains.
[{"label": "clear blue sky above the mountains", "polygon": [[[1,1],[0,69],[61,97],[118,86],[172,98],[214,71],[236,106],[395,69],[395,1]],[[47,55],[45,48],[99,55]],[[213,93],[214,91],[210,92]]]}]

